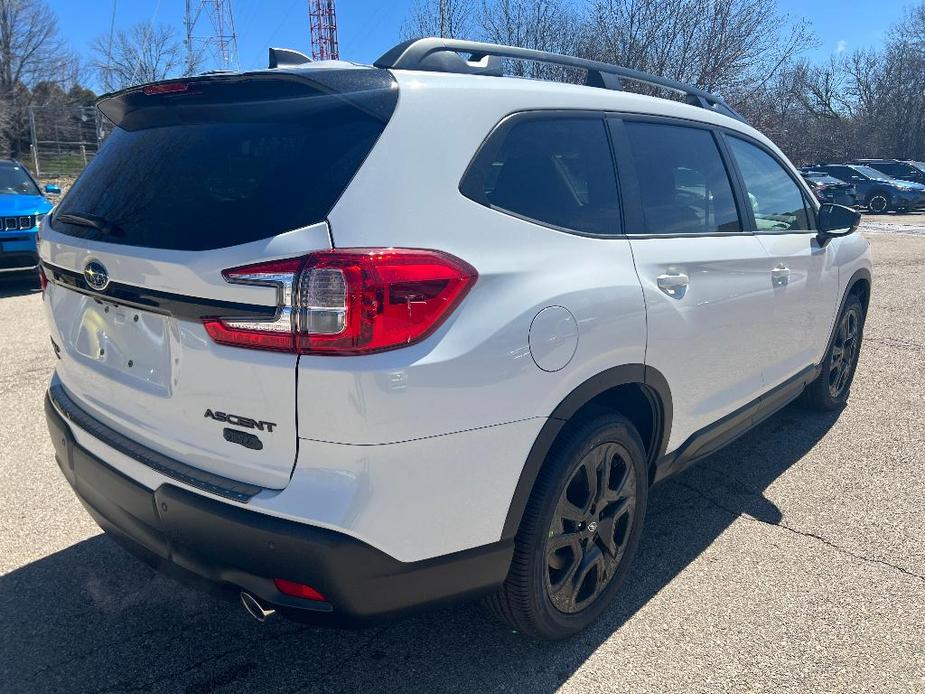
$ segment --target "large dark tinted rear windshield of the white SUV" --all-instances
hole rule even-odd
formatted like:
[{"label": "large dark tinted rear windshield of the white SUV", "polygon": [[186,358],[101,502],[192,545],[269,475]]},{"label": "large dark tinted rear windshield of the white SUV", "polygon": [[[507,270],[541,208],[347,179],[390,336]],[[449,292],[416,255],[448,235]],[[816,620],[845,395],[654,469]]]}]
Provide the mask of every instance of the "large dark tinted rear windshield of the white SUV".
[{"label": "large dark tinted rear windshield of the white SUV", "polygon": [[[122,127],[113,130],[61,201],[55,230],[109,243],[200,251],[323,221],[397,100],[385,71],[325,73],[301,92],[291,83],[282,85],[277,97],[264,80],[251,88],[252,100],[240,80],[228,87],[210,83],[186,103],[185,94],[166,104],[154,97],[150,115],[137,91],[125,97],[119,105],[127,115],[117,123]],[[364,74],[352,80],[349,73]],[[67,214],[92,218],[106,232],[60,219]]]}]

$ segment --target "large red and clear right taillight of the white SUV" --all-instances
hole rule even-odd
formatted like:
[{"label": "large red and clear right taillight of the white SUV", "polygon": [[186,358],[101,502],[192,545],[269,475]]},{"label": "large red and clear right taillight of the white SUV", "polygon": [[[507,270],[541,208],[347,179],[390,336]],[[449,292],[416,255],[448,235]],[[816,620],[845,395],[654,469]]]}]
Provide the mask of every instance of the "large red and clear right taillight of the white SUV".
[{"label": "large red and clear right taillight of the white SUV", "polygon": [[400,248],[337,249],[226,270],[229,282],[275,286],[272,319],[208,318],[221,344],[299,354],[368,354],[430,335],[478,277],[459,258]]}]

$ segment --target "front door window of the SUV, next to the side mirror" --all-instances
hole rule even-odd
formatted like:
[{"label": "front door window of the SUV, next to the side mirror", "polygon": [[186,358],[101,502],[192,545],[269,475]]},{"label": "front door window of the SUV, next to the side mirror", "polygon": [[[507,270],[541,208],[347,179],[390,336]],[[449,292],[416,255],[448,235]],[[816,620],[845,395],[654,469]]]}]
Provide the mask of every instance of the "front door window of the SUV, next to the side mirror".
[{"label": "front door window of the SUV, next to the side mirror", "polygon": [[728,141],[745,181],[757,231],[809,229],[803,193],[777,160],[751,142],[737,137]]}]

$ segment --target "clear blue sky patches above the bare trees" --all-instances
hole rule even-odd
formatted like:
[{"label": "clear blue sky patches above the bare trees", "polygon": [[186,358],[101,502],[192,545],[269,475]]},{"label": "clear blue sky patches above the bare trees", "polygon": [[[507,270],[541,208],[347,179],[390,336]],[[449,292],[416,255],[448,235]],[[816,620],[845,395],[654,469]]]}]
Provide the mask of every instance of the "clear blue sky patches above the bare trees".
[{"label": "clear blue sky patches above the bare trees", "polygon": [[[87,57],[94,36],[109,31],[112,0],[47,0],[74,49]],[[263,67],[270,45],[309,52],[306,0],[231,0],[242,68]],[[411,0],[338,0],[341,56],[371,62],[398,40]],[[908,2],[902,0],[778,0],[781,11],[807,17],[820,39],[809,53],[825,59],[839,50],[880,44]],[[116,25],[152,18],[183,34],[184,0],[116,0]],[[91,81],[92,80],[88,80]]]}]

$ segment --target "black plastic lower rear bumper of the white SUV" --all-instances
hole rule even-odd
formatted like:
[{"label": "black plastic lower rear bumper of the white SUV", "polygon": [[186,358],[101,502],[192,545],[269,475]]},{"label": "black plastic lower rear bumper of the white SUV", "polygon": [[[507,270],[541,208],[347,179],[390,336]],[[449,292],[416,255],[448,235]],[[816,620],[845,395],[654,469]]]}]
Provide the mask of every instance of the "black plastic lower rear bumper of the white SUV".
[{"label": "black plastic lower rear bumper of the white SUV", "polygon": [[[513,541],[400,562],[353,537],[247,510],[172,484],[150,490],[82,448],[45,398],[55,458],[103,530],[158,570],[214,592],[247,590],[290,618],[353,625],[476,597],[505,579]],[[312,586],[314,602],[273,578]]]}]

